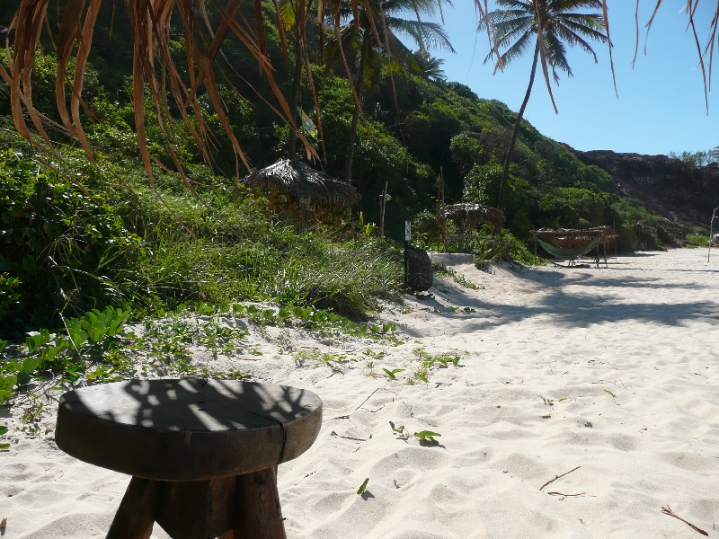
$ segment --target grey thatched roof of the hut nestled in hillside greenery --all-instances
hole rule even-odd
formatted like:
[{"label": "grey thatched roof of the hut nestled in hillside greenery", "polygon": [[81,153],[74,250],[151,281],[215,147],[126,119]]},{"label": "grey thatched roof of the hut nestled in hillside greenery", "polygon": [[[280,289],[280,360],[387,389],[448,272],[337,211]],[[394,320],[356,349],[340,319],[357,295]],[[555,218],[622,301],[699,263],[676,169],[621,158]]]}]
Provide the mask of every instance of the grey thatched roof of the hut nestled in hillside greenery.
[{"label": "grey thatched roof of the hut nestled in hillside greenery", "polygon": [[274,190],[290,199],[311,199],[314,203],[351,206],[359,193],[345,181],[337,181],[298,160],[283,159],[245,176],[240,183],[256,189]]}]

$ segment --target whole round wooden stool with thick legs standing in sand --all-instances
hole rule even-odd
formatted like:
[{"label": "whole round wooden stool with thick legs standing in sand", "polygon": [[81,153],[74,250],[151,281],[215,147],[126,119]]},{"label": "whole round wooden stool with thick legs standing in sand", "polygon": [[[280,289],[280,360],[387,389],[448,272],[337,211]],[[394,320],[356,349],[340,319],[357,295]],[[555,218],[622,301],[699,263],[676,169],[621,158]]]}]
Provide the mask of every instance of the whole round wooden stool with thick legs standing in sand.
[{"label": "whole round wooden stool with thick legs standing in sand", "polygon": [[86,463],[132,475],[108,539],[284,539],[277,465],[302,455],[322,401],[295,387],[136,380],[65,393],[55,439]]}]

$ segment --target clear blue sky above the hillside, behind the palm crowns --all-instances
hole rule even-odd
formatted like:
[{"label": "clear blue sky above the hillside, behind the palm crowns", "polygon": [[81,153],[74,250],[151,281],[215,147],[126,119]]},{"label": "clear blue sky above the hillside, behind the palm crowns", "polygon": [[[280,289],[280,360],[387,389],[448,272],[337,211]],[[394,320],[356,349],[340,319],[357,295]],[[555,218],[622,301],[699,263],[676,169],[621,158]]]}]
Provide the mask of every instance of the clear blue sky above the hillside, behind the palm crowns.
[{"label": "clear blue sky above the hillside, behind the palm crowns", "polygon": [[[527,91],[531,54],[493,75],[493,66],[483,65],[488,50],[486,32],[476,34],[473,0],[443,3],[445,28],[457,54],[432,51],[445,58],[448,80],[468,85],[480,97],[507,103],[519,110]],[[493,9],[490,2],[490,9]],[[686,0],[665,0],[649,33],[644,56],[644,24],[655,2],[642,0],[639,14],[640,49],[635,69],[635,3],[609,0],[609,23],[615,48],[619,99],[614,93],[608,48],[597,44],[599,63],[579,49],[570,51],[573,77],[562,76],[553,85],[559,114],[555,114],[541,69],[529,100],[525,118],[539,131],[579,150],[608,149],[638,154],[706,150],[719,146],[719,79],[709,93],[706,115],[704,86],[698,67],[697,49],[687,17],[679,13]],[[706,41],[711,20],[711,2],[700,3],[697,32]],[[439,14],[435,17],[439,22]],[[719,51],[715,51],[719,60]],[[474,58],[473,58],[474,57]],[[716,66],[719,71],[719,64]]]}]

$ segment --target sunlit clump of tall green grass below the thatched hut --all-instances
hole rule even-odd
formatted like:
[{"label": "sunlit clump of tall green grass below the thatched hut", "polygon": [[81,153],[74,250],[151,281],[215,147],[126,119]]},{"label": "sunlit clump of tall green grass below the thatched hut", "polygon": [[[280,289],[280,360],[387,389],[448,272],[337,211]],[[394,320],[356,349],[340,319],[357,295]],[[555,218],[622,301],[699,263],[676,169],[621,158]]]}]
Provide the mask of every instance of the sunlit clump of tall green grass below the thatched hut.
[{"label": "sunlit clump of tall green grass below the thatched hut", "polygon": [[[146,234],[127,282],[165,300],[226,303],[272,299],[365,318],[379,297],[393,297],[402,280],[399,252],[359,231],[337,241],[330,230],[296,234],[266,216],[252,199],[227,190],[166,198],[177,220]],[[155,205],[151,194],[146,203]],[[182,223],[182,225],[181,225]]]}]

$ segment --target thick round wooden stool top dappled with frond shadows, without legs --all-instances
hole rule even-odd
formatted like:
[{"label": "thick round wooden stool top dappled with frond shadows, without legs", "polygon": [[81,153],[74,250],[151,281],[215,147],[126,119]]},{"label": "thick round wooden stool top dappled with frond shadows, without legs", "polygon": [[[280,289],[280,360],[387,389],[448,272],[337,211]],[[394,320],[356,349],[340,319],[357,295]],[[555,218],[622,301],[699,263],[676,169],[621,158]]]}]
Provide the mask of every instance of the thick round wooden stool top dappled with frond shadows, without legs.
[{"label": "thick round wooden stool top dappled with frond shadows, without legs", "polygon": [[86,463],[160,481],[265,470],[304,453],[322,401],[287,385],[131,380],[65,393],[55,439]]}]

